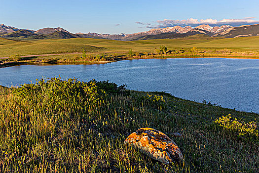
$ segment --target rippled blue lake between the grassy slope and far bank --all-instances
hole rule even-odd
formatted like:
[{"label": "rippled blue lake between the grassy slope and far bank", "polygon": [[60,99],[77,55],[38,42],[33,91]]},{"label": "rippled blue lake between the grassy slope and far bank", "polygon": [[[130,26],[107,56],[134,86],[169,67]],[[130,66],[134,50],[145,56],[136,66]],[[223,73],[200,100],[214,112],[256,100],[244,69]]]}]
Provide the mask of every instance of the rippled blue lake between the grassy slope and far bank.
[{"label": "rippled blue lake between the grassy slope and far bank", "polygon": [[20,65],[0,68],[0,85],[42,77],[109,80],[128,89],[165,91],[188,100],[259,113],[259,59],[178,58],[125,60],[94,65]]}]

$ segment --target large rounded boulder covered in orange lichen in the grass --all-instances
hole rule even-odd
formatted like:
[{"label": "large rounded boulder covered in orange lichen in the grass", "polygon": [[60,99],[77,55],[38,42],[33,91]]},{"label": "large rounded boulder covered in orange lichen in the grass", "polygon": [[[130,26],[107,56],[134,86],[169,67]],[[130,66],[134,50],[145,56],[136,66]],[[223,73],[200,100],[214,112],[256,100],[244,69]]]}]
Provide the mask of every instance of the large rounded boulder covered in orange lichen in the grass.
[{"label": "large rounded boulder covered in orange lichen in the grass", "polygon": [[124,141],[141,149],[151,158],[164,164],[183,159],[183,154],[176,143],[161,131],[141,128],[131,133]]}]

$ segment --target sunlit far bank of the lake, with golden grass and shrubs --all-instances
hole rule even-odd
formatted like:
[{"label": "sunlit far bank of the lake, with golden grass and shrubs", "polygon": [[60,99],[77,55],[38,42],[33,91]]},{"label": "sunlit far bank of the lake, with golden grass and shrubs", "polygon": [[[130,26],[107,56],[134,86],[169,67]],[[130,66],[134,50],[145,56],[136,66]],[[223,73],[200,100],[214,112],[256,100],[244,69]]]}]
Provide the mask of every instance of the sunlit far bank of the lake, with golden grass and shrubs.
[{"label": "sunlit far bank of the lake, with golden grass and shrubs", "polygon": [[[227,49],[228,50],[228,49]],[[230,49],[229,49],[230,51]],[[12,55],[10,57],[0,58],[0,68],[14,65],[26,64],[103,64],[131,59],[162,59],[162,58],[236,58],[236,59],[259,59],[258,54],[247,52],[192,52],[187,50],[178,53],[154,54],[154,53],[136,53],[131,56],[127,52],[87,52],[87,53],[60,53],[60,54],[41,54],[41,55]]]}]

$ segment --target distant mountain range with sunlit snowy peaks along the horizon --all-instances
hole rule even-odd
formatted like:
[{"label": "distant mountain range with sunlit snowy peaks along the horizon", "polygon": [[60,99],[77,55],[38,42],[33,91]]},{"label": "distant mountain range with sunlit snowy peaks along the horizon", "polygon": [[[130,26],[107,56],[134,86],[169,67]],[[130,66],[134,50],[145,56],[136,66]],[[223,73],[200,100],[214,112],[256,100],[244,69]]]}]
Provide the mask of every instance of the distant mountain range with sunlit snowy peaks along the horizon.
[{"label": "distant mountain range with sunlit snowy peaks along the horizon", "polygon": [[18,29],[11,26],[0,24],[0,37],[9,39],[70,39],[70,38],[95,38],[111,39],[120,41],[148,40],[148,39],[174,39],[184,38],[196,34],[208,37],[249,37],[259,36],[259,24],[232,27],[230,25],[209,26],[199,25],[195,28],[190,26],[173,26],[166,28],[154,28],[149,31],[133,34],[98,34],[98,33],[70,33],[63,28],[43,28],[37,31]]}]

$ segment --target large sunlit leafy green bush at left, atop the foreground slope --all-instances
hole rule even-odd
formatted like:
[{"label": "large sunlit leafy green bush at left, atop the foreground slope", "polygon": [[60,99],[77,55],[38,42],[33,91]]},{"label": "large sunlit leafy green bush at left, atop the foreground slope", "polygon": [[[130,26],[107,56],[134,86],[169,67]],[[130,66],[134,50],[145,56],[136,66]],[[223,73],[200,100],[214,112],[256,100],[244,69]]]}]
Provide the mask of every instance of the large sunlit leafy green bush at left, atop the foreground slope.
[{"label": "large sunlit leafy green bush at left, atop the foreground slope", "polygon": [[77,79],[62,81],[60,78],[36,80],[36,84],[24,84],[14,88],[16,95],[26,96],[31,100],[73,100],[83,102],[86,105],[94,104],[101,99],[102,90],[98,90],[96,81],[88,83],[79,82]]}]

